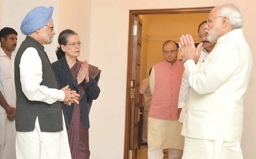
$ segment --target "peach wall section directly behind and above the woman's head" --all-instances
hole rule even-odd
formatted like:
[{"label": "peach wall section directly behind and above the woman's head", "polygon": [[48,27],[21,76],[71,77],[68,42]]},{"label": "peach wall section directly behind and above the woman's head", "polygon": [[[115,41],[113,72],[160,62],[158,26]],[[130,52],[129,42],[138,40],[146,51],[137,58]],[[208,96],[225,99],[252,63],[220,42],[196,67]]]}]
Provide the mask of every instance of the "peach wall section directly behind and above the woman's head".
[{"label": "peach wall section directly behind and above the woman's head", "polygon": [[77,32],[82,42],[81,53],[78,59],[89,60],[91,0],[59,1],[59,33],[66,29]]}]

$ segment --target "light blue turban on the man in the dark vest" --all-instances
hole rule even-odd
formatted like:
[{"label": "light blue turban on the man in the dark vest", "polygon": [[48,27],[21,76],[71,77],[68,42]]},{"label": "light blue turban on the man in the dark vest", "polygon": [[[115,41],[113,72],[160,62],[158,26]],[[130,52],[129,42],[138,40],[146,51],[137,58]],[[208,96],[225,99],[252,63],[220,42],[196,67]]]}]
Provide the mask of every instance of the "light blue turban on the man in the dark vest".
[{"label": "light blue turban on the man in the dark vest", "polygon": [[53,7],[38,6],[32,9],[21,22],[20,31],[24,35],[30,35],[32,32],[46,26],[52,19]]}]

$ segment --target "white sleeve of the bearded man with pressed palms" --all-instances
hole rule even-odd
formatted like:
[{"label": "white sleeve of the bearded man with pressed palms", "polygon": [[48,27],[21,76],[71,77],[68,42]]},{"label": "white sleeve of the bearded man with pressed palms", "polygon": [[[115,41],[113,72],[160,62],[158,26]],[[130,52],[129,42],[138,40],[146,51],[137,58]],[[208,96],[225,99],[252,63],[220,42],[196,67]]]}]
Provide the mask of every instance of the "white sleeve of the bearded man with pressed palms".
[{"label": "white sleeve of the bearded man with pressed palms", "polygon": [[232,76],[240,61],[238,47],[234,44],[219,44],[211,56],[211,60],[202,72],[199,71],[194,60],[187,60],[184,63],[190,86],[198,94],[216,91]]}]

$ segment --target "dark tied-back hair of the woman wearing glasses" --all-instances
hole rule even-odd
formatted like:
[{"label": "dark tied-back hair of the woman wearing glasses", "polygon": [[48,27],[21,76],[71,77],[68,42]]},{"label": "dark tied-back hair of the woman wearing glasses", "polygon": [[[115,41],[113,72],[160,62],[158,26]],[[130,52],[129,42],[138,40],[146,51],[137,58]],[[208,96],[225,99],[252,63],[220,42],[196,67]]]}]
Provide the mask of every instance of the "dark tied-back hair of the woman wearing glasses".
[{"label": "dark tied-back hair of the woman wearing glasses", "polygon": [[[58,37],[59,45],[66,45],[68,43],[68,37],[71,35],[77,35],[77,33],[70,29],[63,30]],[[61,47],[57,47],[55,52],[58,60],[65,56],[65,52],[61,49]]]}]

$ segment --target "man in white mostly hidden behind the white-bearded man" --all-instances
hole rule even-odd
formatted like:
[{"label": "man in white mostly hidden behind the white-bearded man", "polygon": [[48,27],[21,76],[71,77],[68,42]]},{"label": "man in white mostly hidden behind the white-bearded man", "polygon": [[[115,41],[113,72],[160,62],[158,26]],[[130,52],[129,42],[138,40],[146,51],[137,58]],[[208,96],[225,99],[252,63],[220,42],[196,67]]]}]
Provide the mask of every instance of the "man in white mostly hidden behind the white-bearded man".
[{"label": "man in white mostly hidden behind the white-bearded man", "polygon": [[[199,57],[198,62],[196,63],[196,66],[200,67],[200,65],[206,60],[212,49],[214,48],[216,42],[209,42],[207,40],[207,33],[204,28],[206,25],[206,21],[202,22],[198,26],[198,38],[203,43],[201,54]],[[181,86],[180,86],[180,93],[179,93],[179,100],[178,100],[178,116],[179,121],[183,123],[185,112],[186,112],[186,103],[188,99],[188,92],[190,90],[190,85],[188,82],[188,77],[186,76],[186,73],[184,72],[182,76]],[[179,114],[180,113],[180,114]]]}]

